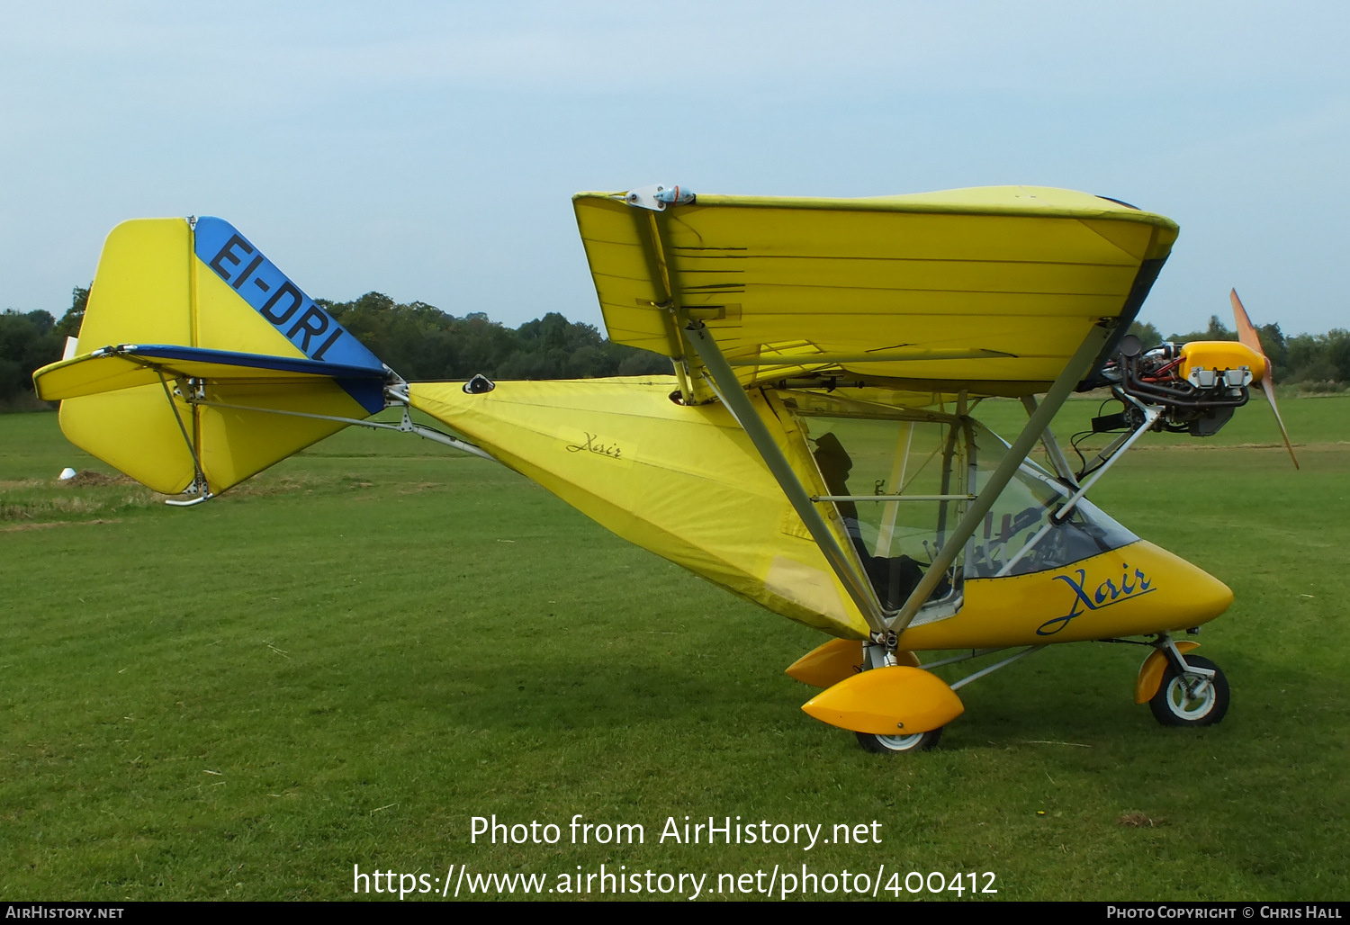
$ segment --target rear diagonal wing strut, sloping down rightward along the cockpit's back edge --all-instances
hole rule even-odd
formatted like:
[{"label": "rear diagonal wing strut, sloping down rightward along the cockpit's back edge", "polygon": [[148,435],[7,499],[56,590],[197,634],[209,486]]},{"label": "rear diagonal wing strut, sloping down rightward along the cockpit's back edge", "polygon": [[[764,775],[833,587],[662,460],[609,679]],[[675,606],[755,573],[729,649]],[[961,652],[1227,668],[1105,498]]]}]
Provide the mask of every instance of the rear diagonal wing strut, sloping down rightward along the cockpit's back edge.
[{"label": "rear diagonal wing strut, sloping down rightward along the cockpit's back edge", "polygon": [[736,373],[732,371],[732,367],[726,363],[726,358],[722,356],[717,342],[713,340],[713,336],[702,321],[690,321],[684,328],[684,335],[698,352],[703,367],[713,377],[711,385],[722,400],[722,404],[736,416],[740,425],[745,428],[751,443],[759,450],[760,458],[764,459],[770,473],[778,479],[787,500],[792,502],[792,508],[802,519],[802,523],[806,524],[806,529],[811,532],[811,539],[815,540],[821,552],[825,554],[826,562],[830,563],[834,574],[844,583],[844,589],[853,598],[853,604],[861,610],[867,625],[873,632],[884,632],[886,614],[882,610],[880,601],[876,600],[872,583],[853,566],[853,562],[840,546],[838,539],[836,539],[834,532],[830,531],[825,519],[821,517],[821,512],[811,504],[811,498],[802,486],[802,481],[792,471],[792,466],[787,462],[787,458],[768,432],[768,428],[764,427],[764,421],[760,420],[759,412],[751,404],[749,396],[745,394],[745,389],[741,388],[740,381],[736,378]]}]

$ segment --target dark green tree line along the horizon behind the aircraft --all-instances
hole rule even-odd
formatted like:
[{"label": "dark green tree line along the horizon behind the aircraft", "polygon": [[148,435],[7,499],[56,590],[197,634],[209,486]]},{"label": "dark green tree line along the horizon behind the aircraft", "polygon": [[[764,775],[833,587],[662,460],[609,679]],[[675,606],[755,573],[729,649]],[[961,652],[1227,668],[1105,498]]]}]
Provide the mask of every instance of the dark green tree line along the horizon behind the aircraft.
[{"label": "dark green tree line along the horizon behind the aircraft", "polygon": [[[32,371],[61,359],[68,336],[84,320],[89,290],[77,286],[70,308],[58,320],[50,312],[0,313],[0,406],[38,406]],[[456,317],[427,302],[396,302],[378,292],[350,302],[316,300],[406,379],[583,379],[603,375],[670,373],[659,354],[608,340],[591,324],[568,321],[558,312],[518,328],[493,321],[483,312]],[[1162,343],[1158,328],[1135,323],[1145,347]],[[1350,331],[1287,338],[1278,324],[1258,328],[1274,381],[1304,392],[1341,392],[1350,384]],[[1235,340],[1218,316],[1204,331],[1173,334],[1166,340]],[[85,347],[105,344],[85,344]]]}]

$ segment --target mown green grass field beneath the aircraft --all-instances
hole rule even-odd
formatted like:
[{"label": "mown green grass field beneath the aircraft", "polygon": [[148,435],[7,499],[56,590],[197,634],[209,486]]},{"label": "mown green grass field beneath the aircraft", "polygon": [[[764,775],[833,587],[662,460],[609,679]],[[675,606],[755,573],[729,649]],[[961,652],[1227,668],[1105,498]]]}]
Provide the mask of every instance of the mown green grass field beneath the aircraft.
[{"label": "mown green grass field beneath the aircraft", "polygon": [[[979,898],[1345,899],[1350,398],[1282,411],[1301,471],[1253,406],[1150,435],[1094,492],[1234,589],[1200,637],[1223,724],[1158,726],[1139,651],[1077,644],[963,689],[940,748],[899,758],[798,709],[783,668],[824,637],[491,463],[346,432],[180,510],[58,486],[111,470],[55,415],[0,416],[0,899],[342,899],[359,866],[427,875],[410,901],[451,864],[706,874],[725,899],[720,874],[803,863],[882,868],[880,898],[991,871]],[[1010,436],[1023,412],[980,416]],[[471,844],[491,814],[562,837]],[[645,841],[574,845],[576,814]],[[875,820],[880,844],[662,843],[686,816]]]}]

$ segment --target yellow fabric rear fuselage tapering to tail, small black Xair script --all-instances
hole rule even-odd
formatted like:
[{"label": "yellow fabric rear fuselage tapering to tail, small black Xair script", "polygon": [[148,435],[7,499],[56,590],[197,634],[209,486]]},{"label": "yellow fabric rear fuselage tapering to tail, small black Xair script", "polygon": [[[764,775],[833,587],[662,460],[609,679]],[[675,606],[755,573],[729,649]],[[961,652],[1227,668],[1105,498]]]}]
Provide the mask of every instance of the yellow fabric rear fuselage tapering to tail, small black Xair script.
[{"label": "yellow fabric rear fuselage tapering to tail, small black Xair script", "polygon": [[[500,382],[482,394],[441,382],[413,384],[409,400],[624,539],[784,617],[867,636],[745,431],[721,405],[675,404],[674,389],[674,377]],[[779,419],[752,400],[792,458]]]}]

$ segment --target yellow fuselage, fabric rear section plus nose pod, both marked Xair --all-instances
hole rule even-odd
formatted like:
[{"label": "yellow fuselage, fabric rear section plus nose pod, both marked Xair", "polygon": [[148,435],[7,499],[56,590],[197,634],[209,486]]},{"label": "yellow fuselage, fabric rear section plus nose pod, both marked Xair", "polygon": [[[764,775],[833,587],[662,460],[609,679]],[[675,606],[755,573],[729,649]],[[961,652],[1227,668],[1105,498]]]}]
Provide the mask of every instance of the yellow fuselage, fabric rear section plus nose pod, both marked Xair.
[{"label": "yellow fuselage, fabric rear section plus nose pod, both marked Xair", "polygon": [[[504,382],[467,394],[416,384],[410,401],[620,536],[775,613],[845,639],[868,625],[720,404],[671,400],[675,379]],[[790,415],[752,392],[809,490],[829,490]],[[837,514],[832,528],[846,543]],[[1199,625],[1233,593],[1152,543],[1134,541],[1058,569],[967,578],[953,609],[919,617],[905,650],[1037,645]]]}]

